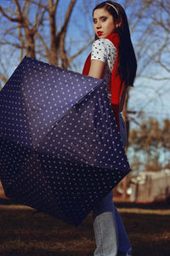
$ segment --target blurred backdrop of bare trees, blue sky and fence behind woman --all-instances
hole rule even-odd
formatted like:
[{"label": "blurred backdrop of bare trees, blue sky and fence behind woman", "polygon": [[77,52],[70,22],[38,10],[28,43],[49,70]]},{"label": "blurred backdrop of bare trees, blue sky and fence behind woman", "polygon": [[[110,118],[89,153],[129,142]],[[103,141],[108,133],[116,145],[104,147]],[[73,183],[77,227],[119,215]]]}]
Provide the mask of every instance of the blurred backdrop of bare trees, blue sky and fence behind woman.
[{"label": "blurred backdrop of bare trees, blue sky and fence behind woman", "polygon": [[[92,11],[101,1],[1,0],[0,90],[25,55],[82,73],[94,41]],[[138,60],[123,115],[132,172],[115,200],[170,197],[170,1],[120,0]],[[3,189],[0,190],[4,196]]]}]

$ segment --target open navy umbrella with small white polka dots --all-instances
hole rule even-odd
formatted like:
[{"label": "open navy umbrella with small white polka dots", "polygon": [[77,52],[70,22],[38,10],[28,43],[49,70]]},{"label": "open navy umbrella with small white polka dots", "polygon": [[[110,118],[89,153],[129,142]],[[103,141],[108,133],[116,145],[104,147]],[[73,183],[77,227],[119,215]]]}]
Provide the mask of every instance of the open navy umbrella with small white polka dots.
[{"label": "open navy umbrella with small white polka dots", "polygon": [[78,225],[129,171],[105,82],[25,57],[0,92],[6,196]]}]

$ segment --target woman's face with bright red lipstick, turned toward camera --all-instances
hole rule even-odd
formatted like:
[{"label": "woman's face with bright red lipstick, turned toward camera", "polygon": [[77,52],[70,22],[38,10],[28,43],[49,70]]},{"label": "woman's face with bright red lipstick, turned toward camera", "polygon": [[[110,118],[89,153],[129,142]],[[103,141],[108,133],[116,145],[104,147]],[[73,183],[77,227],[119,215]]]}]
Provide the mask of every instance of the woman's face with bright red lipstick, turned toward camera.
[{"label": "woman's face with bright red lipstick, turned toward camera", "polygon": [[108,37],[115,29],[115,20],[105,8],[94,10],[94,32],[98,38]]}]

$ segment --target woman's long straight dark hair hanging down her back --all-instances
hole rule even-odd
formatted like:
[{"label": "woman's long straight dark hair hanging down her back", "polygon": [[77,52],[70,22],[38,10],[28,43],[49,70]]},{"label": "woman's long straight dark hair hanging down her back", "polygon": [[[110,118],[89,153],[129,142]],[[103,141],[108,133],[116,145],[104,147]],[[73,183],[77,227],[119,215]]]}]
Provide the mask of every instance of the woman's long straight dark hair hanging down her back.
[{"label": "woman's long straight dark hair hanging down her back", "polygon": [[[116,9],[106,3],[111,3],[111,5],[114,6]],[[115,32],[117,32],[120,37],[118,74],[120,75],[122,82],[125,82],[125,84],[127,85],[133,86],[133,82],[136,77],[137,61],[130,37],[127,15],[119,3],[115,3],[112,1],[105,1],[103,3],[99,3],[94,8],[94,10],[100,8],[105,8],[113,16],[115,22],[122,21],[122,25],[116,27],[115,30]]]}]

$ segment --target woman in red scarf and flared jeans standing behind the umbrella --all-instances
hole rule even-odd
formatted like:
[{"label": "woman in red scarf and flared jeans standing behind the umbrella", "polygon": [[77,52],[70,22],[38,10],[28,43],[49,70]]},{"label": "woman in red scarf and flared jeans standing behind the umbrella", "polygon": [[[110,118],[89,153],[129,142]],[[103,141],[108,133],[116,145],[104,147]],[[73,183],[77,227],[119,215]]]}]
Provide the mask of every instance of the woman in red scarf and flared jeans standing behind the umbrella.
[{"label": "woman in red scarf and flared jeans standing behind the umbrella", "polygon": [[[106,1],[94,8],[95,41],[83,74],[105,79],[116,124],[126,145],[123,104],[128,86],[133,86],[137,62],[130,38],[127,15],[118,3]],[[94,208],[94,256],[131,255],[122,219],[112,201],[112,191]]]}]

